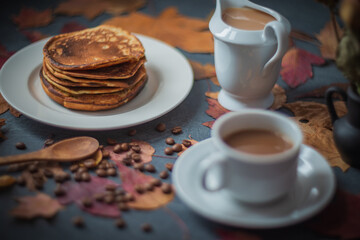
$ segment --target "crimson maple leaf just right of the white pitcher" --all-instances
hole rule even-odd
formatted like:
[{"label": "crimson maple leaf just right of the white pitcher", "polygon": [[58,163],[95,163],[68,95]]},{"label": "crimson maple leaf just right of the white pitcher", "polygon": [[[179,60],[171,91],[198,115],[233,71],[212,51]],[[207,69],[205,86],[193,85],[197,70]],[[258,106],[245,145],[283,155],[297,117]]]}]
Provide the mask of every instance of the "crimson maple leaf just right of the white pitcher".
[{"label": "crimson maple leaf just right of the white pitcher", "polygon": [[293,47],[282,59],[280,71],[282,79],[292,88],[305,83],[313,76],[312,65],[322,65],[325,60],[306,50]]}]

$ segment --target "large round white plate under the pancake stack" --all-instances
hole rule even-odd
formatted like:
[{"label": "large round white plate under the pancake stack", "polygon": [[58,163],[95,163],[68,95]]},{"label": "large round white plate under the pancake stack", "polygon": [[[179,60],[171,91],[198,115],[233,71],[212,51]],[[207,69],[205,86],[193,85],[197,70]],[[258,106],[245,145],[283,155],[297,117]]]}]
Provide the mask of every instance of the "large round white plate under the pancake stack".
[{"label": "large round white plate under the pancake stack", "polygon": [[42,49],[48,39],[14,54],[0,71],[0,92],[6,101],[37,121],[77,130],[106,130],[138,125],[158,118],[178,106],[193,85],[187,59],[171,46],[137,35],[145,47],[148,82],[139,95],[116,109],[85,112],[52,101],[40,85]]}]

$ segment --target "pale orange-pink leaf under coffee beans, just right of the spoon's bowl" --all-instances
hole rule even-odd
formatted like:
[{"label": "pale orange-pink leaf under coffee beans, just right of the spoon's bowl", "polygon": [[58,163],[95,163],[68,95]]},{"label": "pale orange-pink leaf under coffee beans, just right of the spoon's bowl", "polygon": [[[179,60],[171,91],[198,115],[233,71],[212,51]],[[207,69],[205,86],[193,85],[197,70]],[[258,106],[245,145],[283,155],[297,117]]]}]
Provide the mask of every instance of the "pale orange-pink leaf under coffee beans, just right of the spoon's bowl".
[{"label": "pale orange-pink leaf under coffee beans, just right of the spoon's bowl", "polygon": [[[155,153],[155,149],[149,143],[140,140],[132,140],[131,143],[138,144],[141,148],[141,152],[139,154],[142,163],[148,163],[152,161],[152,156]],[[122,160],[129,152],[135,153],[132,149],[125,152],[114,153],[114,146],[107,146],[105,149],[110,152],[110,158],[115,162],[122,162]]]}]

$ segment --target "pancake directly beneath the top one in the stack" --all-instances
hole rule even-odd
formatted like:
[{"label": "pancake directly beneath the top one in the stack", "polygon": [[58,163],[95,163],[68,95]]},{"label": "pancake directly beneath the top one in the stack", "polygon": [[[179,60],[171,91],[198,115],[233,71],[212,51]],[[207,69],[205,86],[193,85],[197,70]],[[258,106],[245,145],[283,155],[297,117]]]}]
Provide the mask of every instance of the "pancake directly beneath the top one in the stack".
[{"label": "pancake directly beneath the top one in the stack", "polygon": [[[46,61],[46,60],[45,60]],[[109,67],[103,67],[93,70],[61,70],[51,65],[50,61],[46,61],[49,68],[52,68],[58,74],[65,76],[89,78],[89,79],[126,79],[134,76],[137,70],[146,62],[145,57],[135,62],[125,62]]]}]

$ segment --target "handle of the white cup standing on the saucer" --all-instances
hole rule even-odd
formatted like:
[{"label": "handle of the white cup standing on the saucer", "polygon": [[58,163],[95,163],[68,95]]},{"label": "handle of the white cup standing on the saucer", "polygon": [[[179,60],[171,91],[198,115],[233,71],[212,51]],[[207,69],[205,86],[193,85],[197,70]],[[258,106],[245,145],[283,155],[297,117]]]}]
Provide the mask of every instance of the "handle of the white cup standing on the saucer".
[{"label": "handle of the white cup standing on the saucer", "polygon": [[[213,153],[212,155],[210,155],[208,158],[206,158],[205,160],[203,160],[200,165],[199,165],[199,171],[200,171],[200,177],[201,177],[201,184],[202,187],[210,192],[215,192],[215,191],[219,191],[220,189],[224,188],[225,186],[225,163],[226,160],[224,158],[224,156],[221,153]],[[221,169],[221,178],[218,179],[218,186],[211,188],[208,186],[207,183],[207,178],[208,178],[208,172],[210,169],[213,168],[220,168]]]}]

